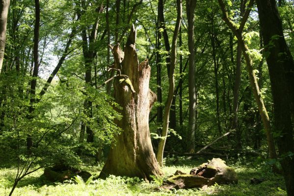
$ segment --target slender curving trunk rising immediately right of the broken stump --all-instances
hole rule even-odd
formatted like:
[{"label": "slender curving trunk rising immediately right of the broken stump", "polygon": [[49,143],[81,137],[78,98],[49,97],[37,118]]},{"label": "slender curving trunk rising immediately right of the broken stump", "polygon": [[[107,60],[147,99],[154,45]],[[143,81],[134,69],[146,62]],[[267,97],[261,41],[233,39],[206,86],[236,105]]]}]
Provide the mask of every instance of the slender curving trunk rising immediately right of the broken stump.
[{"label": "slender curving trunk rising immediately right of the broken stump", "polygon": [[175,26],[175,30],[173,34],[173,39],[172,39],[171,64],[170,64],[169,78],[168,78],[168,83],[169,83],[168,96],[167,96],[167,101],[164,108],[163,126],[162,126],[162,132],[161,132],[162,138],[160,139],[160,144],[159,144],[158,152],[156,156],[160,166],[163,165],[163,151],[164,151],[164,146],[165,146],[166,137],[168,133],[169,111],[170,111],[170,106],[172,103],[174,89],[175,89],[174,72],[175,72],[176,57],[177,57],[177,40],[178,40],[178,34],[181,27],[181,21],[182,21],[182,0],[177,0],[177,21],[176,21],[176,26]]}]

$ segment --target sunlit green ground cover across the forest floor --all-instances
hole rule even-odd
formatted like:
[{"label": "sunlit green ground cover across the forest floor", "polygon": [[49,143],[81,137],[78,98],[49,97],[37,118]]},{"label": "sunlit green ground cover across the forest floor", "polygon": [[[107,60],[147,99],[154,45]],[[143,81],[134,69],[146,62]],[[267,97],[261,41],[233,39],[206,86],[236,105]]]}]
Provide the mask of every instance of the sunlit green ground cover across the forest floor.
[{"label": "sunlit green ground cover across the forest floor", "polygon": [[[175,163],[176,162],[176,163]],[[207,158],[185,160],[184,157],[169,158],[166,160],[165,178],[176,170],[189,172],[192,168],[207,162]],[[237,185],[214,185],[207,190],[165,190],[160,188],[161,180],[151,183],[138,178],[110,176],[107,180],[72,179],[67,183],[50,183],[40,178],[42,170],[31,173],[21,180],[14,191],[14,196],[286,196],[285,182],[281,175],[269,171],[269,166],[262,162],[257,164],[246,158],[226,160],[226,164],[238,173]],[[6,165],[6,166],[5,166]],[[12,187],[16,169],[0,164],[0,196],[9,194]],[[82,166],[92,175],[97,176],[102,166]],[[260,184],[251,185],[251,178],[264,178]]]}]

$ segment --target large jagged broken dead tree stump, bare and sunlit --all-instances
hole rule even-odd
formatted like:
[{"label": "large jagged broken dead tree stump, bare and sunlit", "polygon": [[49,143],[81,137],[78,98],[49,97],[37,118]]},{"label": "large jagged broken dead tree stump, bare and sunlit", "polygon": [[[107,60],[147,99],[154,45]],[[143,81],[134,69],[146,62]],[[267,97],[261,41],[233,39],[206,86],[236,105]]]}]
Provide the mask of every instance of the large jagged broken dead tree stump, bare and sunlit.
[{"label": "large jagged broken dead tree stump, bare and sunlit", "polygon": [[118,45],[112,49],[115,66],[121,70],[113,86],[114,98],[122,107],[117,109],[122,119],[116,124],[123,132],[111,146],[99,176],[102,178],[112,174],[152,180],[151,175],[161,175],[151,144],[148,122],[156,94],[149,89],[151,68],[148,60],[138,63],[135,37],[133,25],[124,52]]}]

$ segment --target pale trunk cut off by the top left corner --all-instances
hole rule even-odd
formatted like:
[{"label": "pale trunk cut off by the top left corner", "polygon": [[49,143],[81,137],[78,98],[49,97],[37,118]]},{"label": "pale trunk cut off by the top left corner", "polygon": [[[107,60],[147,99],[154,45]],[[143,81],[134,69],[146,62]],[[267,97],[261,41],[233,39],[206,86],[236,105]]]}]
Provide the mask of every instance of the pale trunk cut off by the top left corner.
[{"label": "pale trunk cut off by the top left corner", "polygon": [[6,26],[10,0],[0,0],[0,73],[4,58],[6,43]]}]

